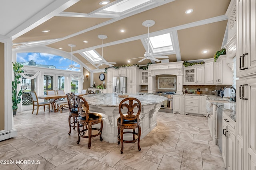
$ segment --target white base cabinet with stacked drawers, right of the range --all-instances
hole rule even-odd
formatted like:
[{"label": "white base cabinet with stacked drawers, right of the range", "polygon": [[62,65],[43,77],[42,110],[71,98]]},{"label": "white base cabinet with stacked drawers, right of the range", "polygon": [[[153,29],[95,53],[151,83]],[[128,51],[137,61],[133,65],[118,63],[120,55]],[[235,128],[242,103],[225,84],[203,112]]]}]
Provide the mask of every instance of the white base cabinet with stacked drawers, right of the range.
[{"label": "white base cabinet with stacked drawers, right of the range", "polygon": [[199,113],[199,96],[185,95],[185,114]]}]

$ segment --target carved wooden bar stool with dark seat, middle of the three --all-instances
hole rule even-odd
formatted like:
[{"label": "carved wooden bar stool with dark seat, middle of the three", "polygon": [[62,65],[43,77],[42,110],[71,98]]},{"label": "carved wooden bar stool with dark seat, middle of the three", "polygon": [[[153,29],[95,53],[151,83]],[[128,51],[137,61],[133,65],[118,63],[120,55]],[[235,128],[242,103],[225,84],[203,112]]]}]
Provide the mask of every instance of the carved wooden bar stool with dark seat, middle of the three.
[{"label": "carved wooden bar stool with dark seat, middle of the three", "polygon": [[[78,141],[76,141],[76,143],[79,144],[80,137],[88,138],[88,149],[90,149],[92,137],[96,137],[96,136],[100,135],[100,141],[103,140],[101,137],[102,128],[103,128],[102,116],[99,113],[89,113],[88,102],[83,97],[76,96],[76,104],[78,106],[77,109],[78,109],[78,114],[79,114],[78,122],[76,125],[77,133],[78,133]],[[100,129],[92,127],[92,125],[96,125],[98,123],[100,123]],[[80,125],[83,125],[83,128],[84,128],[84,126],[86,126],[86,128],[83,129],[82,131],[80,131]],[[87,125],[88,125],[88,127],[87,127]],[[98,133],[92,135],[92,130],[96,130],[96,131],[98,131]],[[87,135],[87,133],[84,134],[86,131],[88,131],[88,135]]]}]

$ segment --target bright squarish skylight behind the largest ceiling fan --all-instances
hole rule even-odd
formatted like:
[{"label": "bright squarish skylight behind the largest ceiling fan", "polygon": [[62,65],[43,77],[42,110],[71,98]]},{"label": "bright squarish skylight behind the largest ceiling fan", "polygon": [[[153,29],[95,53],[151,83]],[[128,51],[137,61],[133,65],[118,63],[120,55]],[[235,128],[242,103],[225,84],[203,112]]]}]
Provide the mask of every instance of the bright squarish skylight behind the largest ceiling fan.
[{"label": "bright squarish skylight behind the largest ceiling fan", "polygon": [[170,33],[149,37],[149,45],[153,53],[174,51]]}]

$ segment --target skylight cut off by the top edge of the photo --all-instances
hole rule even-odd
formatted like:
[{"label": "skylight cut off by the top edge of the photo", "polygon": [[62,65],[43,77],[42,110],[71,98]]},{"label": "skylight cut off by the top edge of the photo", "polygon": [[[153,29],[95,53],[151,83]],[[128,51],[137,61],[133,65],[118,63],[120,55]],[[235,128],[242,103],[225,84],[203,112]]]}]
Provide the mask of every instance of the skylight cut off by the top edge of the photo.
[{"label": "skylight cut off by the top edge of the photo", "polygon": [[135,8],[137,6],[141,6],[142,4],[144,4],[146,2],[150,2],[150,1],[152,1],[152,0],[122,0],[121,2],[118,2],[108,8],[105,8],[103,11],[121,13],[126,10]]}]

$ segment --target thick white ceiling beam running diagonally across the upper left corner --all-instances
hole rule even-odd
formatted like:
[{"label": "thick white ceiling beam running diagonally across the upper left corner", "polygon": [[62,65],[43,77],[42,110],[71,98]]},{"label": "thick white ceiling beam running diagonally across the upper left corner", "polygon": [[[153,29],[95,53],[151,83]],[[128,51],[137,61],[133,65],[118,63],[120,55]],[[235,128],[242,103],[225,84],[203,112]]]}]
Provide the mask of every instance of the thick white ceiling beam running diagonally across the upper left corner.
[{"label": "thick white ceiling beam running diagonally across the upper left corner", "polygon": [[74,5],[78,1],[79,0],[55,0],[46,8],[35,14],[32,18],[10,31],[6,36],[12,37],[12,40],[14,40],[54,17],[56,14]]}]

